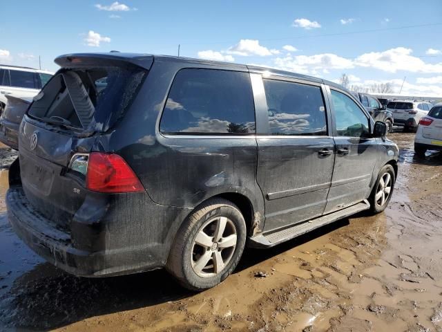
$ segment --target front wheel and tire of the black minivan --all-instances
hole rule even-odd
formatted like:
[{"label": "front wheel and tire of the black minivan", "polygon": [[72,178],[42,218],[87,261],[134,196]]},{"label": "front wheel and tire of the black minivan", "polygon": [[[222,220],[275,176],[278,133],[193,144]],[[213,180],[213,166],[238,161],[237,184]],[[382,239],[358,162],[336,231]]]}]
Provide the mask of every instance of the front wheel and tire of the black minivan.
[{"label": "front wheel and tire of the black minivan", "polygon": [[385,165],[379,171],[372,194],[369,197],[371,210],[374,214],[383,212],[392,198],[396,174],[392,165]]}]

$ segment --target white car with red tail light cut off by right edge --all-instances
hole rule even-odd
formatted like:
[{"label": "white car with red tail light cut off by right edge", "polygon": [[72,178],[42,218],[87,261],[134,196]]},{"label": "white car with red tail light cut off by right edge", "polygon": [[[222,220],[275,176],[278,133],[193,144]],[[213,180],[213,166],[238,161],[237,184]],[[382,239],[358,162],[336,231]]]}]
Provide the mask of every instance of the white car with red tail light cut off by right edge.
[{"label": "white car with red tail light cut off by right edge", "polygon": [[442,104],[436,104],[419,120],[414,138],[414,151],[425,156],[427,150],[442,150]]}]

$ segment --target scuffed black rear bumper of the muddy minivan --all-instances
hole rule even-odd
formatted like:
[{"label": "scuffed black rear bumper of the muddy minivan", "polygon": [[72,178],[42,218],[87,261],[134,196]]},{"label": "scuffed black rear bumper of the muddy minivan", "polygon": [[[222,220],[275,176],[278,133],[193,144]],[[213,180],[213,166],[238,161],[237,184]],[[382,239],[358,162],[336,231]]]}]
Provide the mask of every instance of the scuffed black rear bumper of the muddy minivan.
[{"label": "scuffed black rear bumper of the muddy minivan", "polygon": [[[169,252],[169,239],[144,241],[146,234],[131,234],[119,248],[88,251],[75,248],[70,234],[57,229],[49,219],[40,214],[26,199],[22,187],[11,187],[6,194],[8,219],[17,235],[38,255],[68,273],[82,277],[124,275],[162,268]],[[156,220],[155,220],[156,221]],[[135,224],[135,228],[139,227]],[[130,228],[129,231],[132,229]],[[124,231],[122,231],[124,233]],[[120,234],[106,234],[108,242]],[[124,234],[120,235],[119,240]]]}]

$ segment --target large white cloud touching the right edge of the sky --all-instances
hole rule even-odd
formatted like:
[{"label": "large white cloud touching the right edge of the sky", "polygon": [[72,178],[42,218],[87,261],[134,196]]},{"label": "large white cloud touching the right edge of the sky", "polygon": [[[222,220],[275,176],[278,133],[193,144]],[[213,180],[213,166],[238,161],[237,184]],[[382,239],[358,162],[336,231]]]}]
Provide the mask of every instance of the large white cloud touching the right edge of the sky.
[{"label": "large white cloud touching the right edge of the sky", "polygon": [[442,73],[442,62],[427,64],[419,57],[413,57],[411,48],[396,47],[383,52],[365,53],[356,57],[355,64],[363,67],[372,67],[396,73],[396,71],[410,71],[412,73]]}]

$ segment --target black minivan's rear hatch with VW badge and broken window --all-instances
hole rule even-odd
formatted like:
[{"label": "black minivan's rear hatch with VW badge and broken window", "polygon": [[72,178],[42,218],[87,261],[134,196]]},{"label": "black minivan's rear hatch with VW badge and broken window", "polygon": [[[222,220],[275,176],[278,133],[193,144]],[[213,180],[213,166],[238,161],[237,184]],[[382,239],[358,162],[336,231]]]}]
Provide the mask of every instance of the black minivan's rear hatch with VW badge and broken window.
[{"label": "black minivan's rear hatch with VW badge and broken window", "polygon": [[[68,231],[87,192],[87,154],[124,116],[148,68],[114,55],[56,61],[63,68],[34,98],[20,127],[19,160],[28,201]],[[70,165],[73,156],[76,165]]]}]

